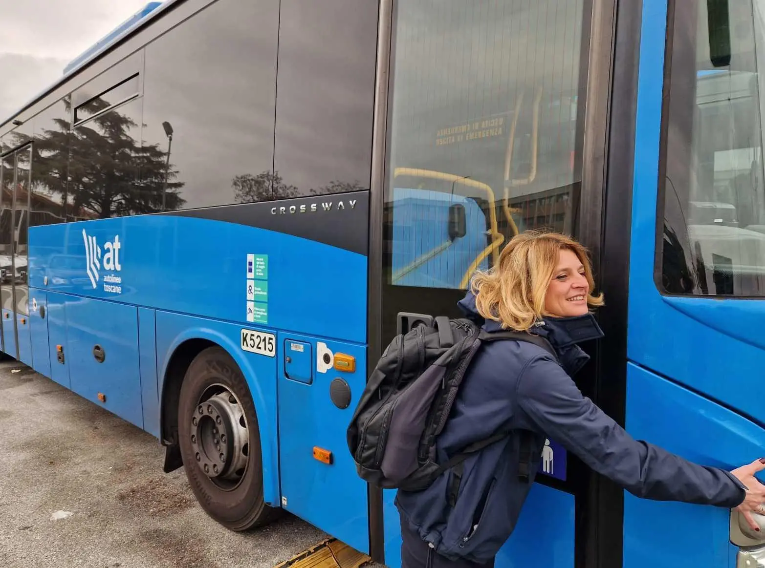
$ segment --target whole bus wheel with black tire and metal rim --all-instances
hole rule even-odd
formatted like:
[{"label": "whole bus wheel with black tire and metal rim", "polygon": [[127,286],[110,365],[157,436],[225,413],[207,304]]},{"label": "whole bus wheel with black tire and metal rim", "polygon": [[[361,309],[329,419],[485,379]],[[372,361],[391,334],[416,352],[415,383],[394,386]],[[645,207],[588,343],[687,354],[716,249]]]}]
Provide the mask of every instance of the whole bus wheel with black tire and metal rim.
[{"label": "whole bus wheel with black tire and metal rim", "polygon": [[219,346],[189,365],[178,401],[184,469],[200,505],[232,531],[274,518],[263,500],[263,468],[255,404],[239,365]]}]

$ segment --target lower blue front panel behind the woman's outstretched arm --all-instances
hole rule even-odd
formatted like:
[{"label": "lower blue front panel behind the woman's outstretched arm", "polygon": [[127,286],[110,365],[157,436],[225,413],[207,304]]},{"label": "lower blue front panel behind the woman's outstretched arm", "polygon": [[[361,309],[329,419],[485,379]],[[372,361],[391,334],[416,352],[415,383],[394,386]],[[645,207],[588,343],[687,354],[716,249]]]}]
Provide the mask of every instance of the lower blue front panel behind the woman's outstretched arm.
[{"label": "lower blue front panel behind the woman's outstretched arm", "polygon": [[[627,366],[627,400],[627,430],[636,440],[728,471],[762,455],[762,428],[633,363]],[[625,492],[623,568],[734,566],[729,524],[728,509]]]}]

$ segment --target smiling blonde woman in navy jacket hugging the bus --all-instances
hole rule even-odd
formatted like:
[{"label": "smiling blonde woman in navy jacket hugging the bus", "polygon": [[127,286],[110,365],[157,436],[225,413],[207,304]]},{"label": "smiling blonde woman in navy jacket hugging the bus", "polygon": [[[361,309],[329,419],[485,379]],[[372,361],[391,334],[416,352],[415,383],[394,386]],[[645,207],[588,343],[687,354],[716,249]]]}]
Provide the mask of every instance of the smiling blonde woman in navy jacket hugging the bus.
[{"label": "smiling blonde woman in navy jacket hugging the bus", "polygon": [[[460,365],[464,376],[438,434],[434,455],[449,456],[447,465],[428,487],[396,495],[402,568],[493,568],[540,462],[552,462],[551,439],[638,497],[760,511],[765,486],[754,472],[765,460],[733,472],[698,466],[637,442],[579,391],[572,377],[589,358],[578,343],[603,336],[589,310],[603,303],[593,287],[584,247],[555,232],[522,232],[474,278],[459,305],[480,326],[483,345],[467,370]],[[442,380],[451,385],[454,374]],[[393,432],[386,444],[402,446]]]}]

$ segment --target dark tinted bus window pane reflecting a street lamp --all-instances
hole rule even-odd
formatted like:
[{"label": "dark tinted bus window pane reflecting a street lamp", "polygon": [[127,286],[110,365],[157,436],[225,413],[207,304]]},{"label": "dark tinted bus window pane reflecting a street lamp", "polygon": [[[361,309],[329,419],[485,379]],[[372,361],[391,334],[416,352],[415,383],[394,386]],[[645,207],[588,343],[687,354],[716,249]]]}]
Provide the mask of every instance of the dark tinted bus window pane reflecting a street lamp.
[{"label": "dark tinted bus window pane reflecting a street lamp", "polygon": [[271,199],[277,34],[278,0],[219,0],[146,47],[141,185],[157,210]]}]

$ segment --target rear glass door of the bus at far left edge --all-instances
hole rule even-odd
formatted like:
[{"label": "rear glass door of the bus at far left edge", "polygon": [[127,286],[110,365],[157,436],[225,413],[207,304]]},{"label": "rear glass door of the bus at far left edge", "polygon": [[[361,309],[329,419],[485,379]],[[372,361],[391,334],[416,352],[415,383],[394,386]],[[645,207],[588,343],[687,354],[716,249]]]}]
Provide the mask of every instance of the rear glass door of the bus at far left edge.
[{"label": "rear glass door of the bus at far left edge", "polygon": [[31,145],[3,157],[0,196],[0,316],[3,351],[32,364],[28,307]]}]

